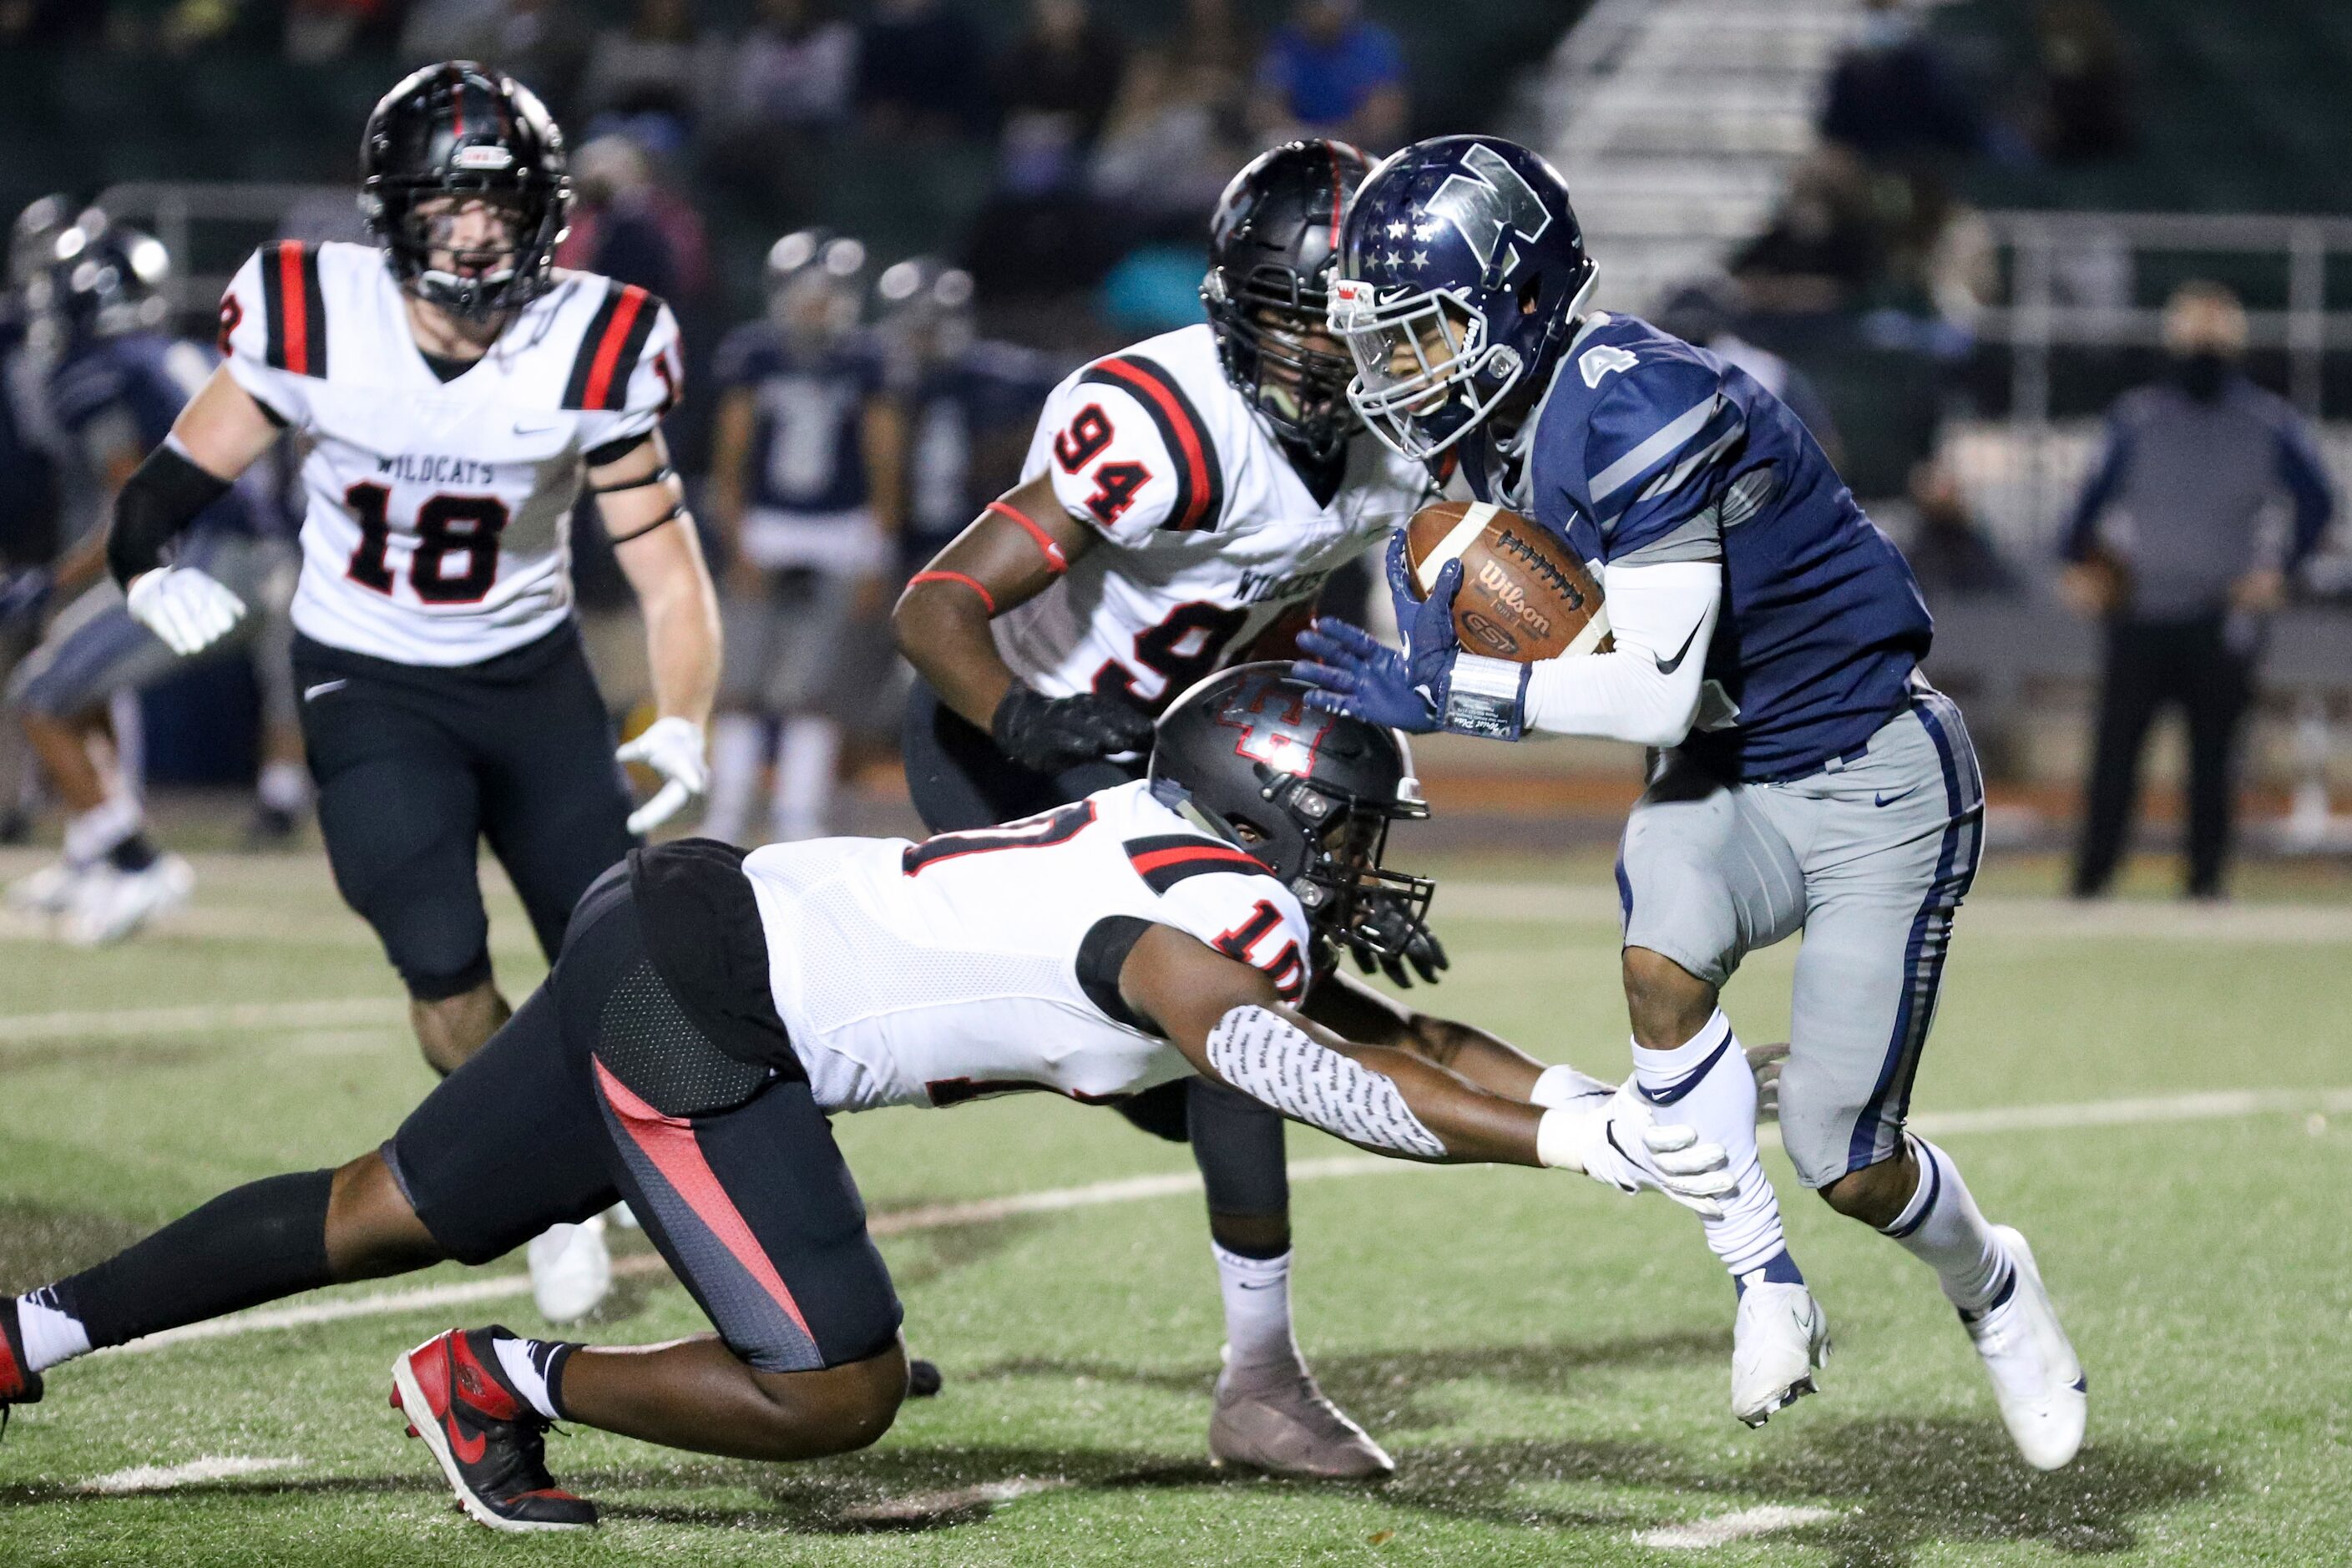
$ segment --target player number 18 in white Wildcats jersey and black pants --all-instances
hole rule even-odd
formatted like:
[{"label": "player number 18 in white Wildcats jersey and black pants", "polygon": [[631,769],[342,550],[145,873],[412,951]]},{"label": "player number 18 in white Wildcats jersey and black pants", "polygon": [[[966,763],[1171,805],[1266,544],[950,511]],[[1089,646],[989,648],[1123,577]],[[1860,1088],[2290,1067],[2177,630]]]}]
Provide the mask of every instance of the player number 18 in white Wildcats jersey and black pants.
[{"label": "player number 18 in white Wildcats jersey and black pants", "polygon": [[[336,889],[383,940],[435,1072],[513,1009],[489,964],[487,837],[555,959],[637,835],[701,792],[720,632],[661,416],[677,327],[644,289],[553,266],[569,179],[539,99],[473,63],[376,103],[362,202],[381,252],[285,240],[221,299],[228,362],[115,505],[106,557],[134,616],[195,651],[245,614],[176,543],[280,437],[308,442],[294,670]],[[661,717],[621,759],[668,783],[630,813],[581,656],[562,541],[581,484],[637,590]],[[550,1316],[609,1281],[579,1232],[534,1276]]]}]

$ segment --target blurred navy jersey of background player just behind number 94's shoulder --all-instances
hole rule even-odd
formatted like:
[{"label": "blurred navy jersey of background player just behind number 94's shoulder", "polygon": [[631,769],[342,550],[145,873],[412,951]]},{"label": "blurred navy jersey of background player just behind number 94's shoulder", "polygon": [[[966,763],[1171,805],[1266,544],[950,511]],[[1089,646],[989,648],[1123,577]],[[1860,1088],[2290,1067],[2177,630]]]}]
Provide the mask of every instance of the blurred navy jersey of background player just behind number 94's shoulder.
[{"label": "blurred navy jersey of background player just behind number 94's shoulder", "polygon": [[[901,541],[910,567],[938,555],[997,491],[1018,482],[1030,428],[1056,381],[1061,371],[1044,355],[1011,343],[974,343],[910,378]],[[1009,451],[1007,473],[990,473],[983,461],[990,437]]]}]

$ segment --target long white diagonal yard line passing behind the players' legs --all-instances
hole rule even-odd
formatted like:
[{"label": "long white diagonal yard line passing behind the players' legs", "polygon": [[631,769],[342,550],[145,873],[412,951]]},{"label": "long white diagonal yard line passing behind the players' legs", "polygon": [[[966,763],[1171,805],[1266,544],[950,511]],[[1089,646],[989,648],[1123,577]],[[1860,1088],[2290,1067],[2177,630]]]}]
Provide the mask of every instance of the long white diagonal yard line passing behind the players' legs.
[{"label": "long white diagonal yard line passing behind the players' legs", "polygon": [[[2025,1133],[2082,1126],[2147,1126],[2161,1121],[2225,1121],[2267,1114],[2352,1112],[2352,1088],[2230,1088],[2194,1095],[2086,1100],[2077,1105],[2009,1105],[1999,1110],[1959,1110],[1943,1114],[1919,1114],[1910,1126],[1922,1133]],[[1759,1131],[1759,1143],[1778,1145],[1780,1128]],[[1294,1182],[1343,1180],[1352,1175],[1409,1175],[1416,1171],[1470,1171],[1475,1166],[1421,1166],[1404,1159],[1381,1159],[1378,1154],[1334,1154],[1329,1159],[1291,1161]],[[877,1213],[868,1229],[877,1237],[906,1237],[927,1229],[955,1229],[962,1225],[993,1225],[1033,1213],[1065,1213],[1070,1208],[1101,1208],[1103,1204],[1141,1204],[1148,1199],[1185,1197],[1200,1192],[1197,1171],[1171,1171],[1167,1175],[1129,1175],[1084,1187],[1047,1187],[1044,1192],[1014,1192],[1000,1199],[971,1204],[924,1204],[922,1208],[898,1208]],[[621,1258],[614,1274],[652,1274],[663,1267],[656,1255]],[[529,1295],[527,1274],[494,1274],[489,1279],[459,1279],[440,1286],[409,1291],[374,1291],[369,1295],[346,1295],[339,1300],[303,1302],[299,1307],[261,1307],[188,1324],[165,1333],[132,1340],[111,1354],[143,1354],[169,1349],[191,1340],[226,1340],[273,1328],[303,1328],[310,1324],[339,1324],[355,1316],[388,1316],[395,1312],[426,1312],[440,1307],[466,1307],[473,1302]]]}]

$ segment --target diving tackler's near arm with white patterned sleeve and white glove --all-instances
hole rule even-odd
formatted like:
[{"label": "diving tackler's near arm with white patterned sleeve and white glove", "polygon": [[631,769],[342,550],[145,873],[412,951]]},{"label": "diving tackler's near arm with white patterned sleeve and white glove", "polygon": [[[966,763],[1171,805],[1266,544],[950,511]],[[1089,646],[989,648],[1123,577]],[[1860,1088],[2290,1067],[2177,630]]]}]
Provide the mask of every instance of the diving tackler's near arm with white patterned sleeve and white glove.
[{"label": "diving tackler's near arm with white patterned sleeve and white glove", "polygon": [[1120,994],[1204,1077],[1378,1154],[1583,1171],[1623,1192],[1661,1187],[1703,1213],[1733,1185],[1722,1147],[1658,1126],[1632,1095],[1559,1110],[1508,1100],[1411,1051],[1324,1030],[1284,1006],[1263,971],[1174,926],[1136,940]]}]

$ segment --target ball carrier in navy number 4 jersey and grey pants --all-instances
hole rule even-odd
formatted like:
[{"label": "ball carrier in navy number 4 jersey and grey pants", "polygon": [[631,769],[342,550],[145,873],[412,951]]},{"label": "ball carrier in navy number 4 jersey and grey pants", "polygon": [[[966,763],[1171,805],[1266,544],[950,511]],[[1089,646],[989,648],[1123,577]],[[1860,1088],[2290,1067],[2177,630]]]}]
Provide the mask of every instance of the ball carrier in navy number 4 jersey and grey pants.
[{"label": "ball carrier in navy number 4 jersey and grey pants", "polygon": [[1708,1222],[1740,1291],[1733,1413],[1762,1425],[1811,1392],[1830,1347],[1717,1006],[1740,957],[1804,931],[1780,1086],[1797,1178],[1936,1272],[2009,1434],[2056,1469],[2082,1443],[2086,1389],[2034,1255],[1903,1126],[1983,844],[1969,731],[1917,668],[1926,607],[1788,404],[1592,310],[1592,287],[1569,190],[1522,146],[1439,136],[1364,181],[1331,287],[1350,402],[1397,451],[1456,451],[1482,501],[1564,538],[1602,583],[1616,646],[1534,665],[1465,654],[1461,564],[1416,599],[1399,538],[1406,651],[1324,621],[1298,675],[1406,731],[1663,750],[1618,860],[1623,978],[1642,1091],[1740,1150],[1738,1192]]}]

